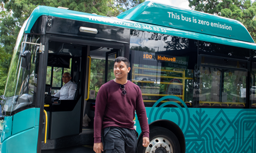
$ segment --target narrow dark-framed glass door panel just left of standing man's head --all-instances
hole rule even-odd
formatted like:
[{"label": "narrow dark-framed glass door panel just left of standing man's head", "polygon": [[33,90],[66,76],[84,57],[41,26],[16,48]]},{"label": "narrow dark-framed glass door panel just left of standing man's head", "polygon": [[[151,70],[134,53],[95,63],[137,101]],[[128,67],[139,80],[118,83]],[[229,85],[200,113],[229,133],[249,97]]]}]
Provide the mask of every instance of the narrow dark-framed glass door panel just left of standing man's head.
[{"label": "narrow dark-framed glass door panel just left of standing man's head", "polygon": [[114,64],[115,59],[118,57],[119,49],[113,49],[111,52],[106,53],[106,69],[105,69],[105,82],[115,79]]}]

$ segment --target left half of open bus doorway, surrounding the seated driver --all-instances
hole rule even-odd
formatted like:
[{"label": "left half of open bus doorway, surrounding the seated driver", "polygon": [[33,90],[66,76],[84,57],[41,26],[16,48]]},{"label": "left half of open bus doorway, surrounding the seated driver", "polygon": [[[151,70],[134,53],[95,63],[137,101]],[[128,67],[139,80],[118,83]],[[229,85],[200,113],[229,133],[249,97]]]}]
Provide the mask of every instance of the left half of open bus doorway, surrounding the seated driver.
[{"label": "left half of open bus doorway, surrounding the seated driver", "polygon": [[[82,105],[81,65],[87,58],[87,46],[74,43],[49,41],[48,63],[46,75],[45,110],[48,116],[48,139],[57,139],[64,136],[80,133],[80,116]],[[71,82],[76,86],[72,99],[58,99],[54,97],[65,85],[62,74],[69,72]],[[44,126],[45,128],[45,126]],[[42,139],[45,139],[45,129],[42,130]]]}]

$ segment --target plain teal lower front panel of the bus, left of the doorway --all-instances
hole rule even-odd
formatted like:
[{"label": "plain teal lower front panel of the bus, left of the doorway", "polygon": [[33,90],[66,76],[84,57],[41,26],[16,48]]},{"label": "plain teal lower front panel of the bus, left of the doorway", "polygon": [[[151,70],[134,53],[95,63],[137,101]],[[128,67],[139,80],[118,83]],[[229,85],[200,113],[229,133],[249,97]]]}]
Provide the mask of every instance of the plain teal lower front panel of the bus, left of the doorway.
[{"label": "plain teal lower front panel of the bus, left of the doorway", "polygon": [[3,131],[0,152],[36,152],[39,110],[39,108],[31,108],[5,117],[1,122]]}]

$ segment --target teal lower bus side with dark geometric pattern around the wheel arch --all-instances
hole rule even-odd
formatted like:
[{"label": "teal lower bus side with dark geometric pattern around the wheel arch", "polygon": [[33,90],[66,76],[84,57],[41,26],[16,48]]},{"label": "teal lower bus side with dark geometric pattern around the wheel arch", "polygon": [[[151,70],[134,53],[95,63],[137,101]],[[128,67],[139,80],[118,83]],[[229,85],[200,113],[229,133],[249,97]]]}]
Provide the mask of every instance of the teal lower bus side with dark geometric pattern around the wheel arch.
[{"label": "teal lower bus side with dark geometric pattern around the wheel arch", "polygon": [[[184,105],[168,101],[156,107],[162,100],[173,98]],[[164,108],[175,105],[177,108]],[[152,108],[146,108],[148,123],[166,119],[176,123],[182,130],[186,152],[256,152],[256,110],[187,108],[184,101],[176,96],[159,99]],[[138,133],[139,122],[135,120]],[[171,128],[171,127],[170,127]]]}]

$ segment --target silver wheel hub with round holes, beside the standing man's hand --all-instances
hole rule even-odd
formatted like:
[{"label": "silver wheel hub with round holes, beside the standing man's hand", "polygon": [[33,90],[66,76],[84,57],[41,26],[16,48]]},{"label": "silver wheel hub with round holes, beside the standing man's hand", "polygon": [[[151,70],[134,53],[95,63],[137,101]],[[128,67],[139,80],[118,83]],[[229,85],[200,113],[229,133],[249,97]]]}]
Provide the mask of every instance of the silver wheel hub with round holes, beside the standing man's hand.
[{"label": "silver wheel hub with round holes, beside the standing man's hand", "polygon": [[145,153],[173,153],[173,146],[167,139],[158,137],[151,140]]}]

